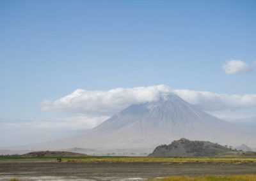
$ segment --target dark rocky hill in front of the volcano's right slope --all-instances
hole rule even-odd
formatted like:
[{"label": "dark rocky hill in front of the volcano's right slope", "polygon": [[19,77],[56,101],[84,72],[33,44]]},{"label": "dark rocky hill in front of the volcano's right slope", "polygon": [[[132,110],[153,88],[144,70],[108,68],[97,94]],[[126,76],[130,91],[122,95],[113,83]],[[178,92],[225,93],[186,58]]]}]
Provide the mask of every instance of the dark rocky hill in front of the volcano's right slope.
[{"label": "dark rocky hill in front of the volcano's right slope", "polygon": [[170,145],[156,147],[149,157],[190,157],[190,156],[218,156],[226,152],[235,151],[230,148],[211,143],[209,141],[190,141],[182,138]]}]

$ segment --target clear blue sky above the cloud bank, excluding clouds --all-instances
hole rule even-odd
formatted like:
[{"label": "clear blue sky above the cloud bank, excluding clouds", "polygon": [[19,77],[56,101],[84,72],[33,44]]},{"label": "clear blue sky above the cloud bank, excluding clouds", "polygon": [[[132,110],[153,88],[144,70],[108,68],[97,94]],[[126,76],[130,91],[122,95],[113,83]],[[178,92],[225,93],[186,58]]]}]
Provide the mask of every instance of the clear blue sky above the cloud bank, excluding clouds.
[{"label": "clear blue sky above the cloud bank, excluding clouds", "polygon": [[0,1],[0,119],[41,119],[75,89],[164,83],[255,94],[256,1]]}]

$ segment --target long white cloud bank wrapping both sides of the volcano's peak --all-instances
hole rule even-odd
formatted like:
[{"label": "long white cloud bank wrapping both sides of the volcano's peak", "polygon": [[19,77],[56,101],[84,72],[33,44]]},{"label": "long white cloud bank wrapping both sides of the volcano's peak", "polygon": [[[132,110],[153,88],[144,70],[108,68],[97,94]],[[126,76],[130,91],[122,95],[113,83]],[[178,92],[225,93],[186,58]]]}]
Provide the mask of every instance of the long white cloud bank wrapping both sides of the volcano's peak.
[{"label": "long white cloud bank wrapping both sides of the volcano's peak", "polygon": [[134,103],[156,101],[166,92],[173,92],[180,98],[205,111],[223,111],[256,108],[256,94],[216,94],[188,89],[171,89],[167,85],[149,87],[117,88],[109,91],[86,91],[77,89],[56,101],[44,101],[42,110],[49,112],[83,113],[87,116],[111,116]]}]

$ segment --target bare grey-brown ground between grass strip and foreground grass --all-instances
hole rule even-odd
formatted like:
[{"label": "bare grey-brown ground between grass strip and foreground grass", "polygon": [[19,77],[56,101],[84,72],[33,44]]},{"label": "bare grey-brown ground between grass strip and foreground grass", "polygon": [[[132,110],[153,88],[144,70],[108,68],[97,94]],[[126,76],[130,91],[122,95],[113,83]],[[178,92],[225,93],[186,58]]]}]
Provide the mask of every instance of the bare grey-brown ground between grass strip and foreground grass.
[{"label": "bare grey-brown ground between grass strip and foreground grass", "polygon": [[0,180],[141,180],[168,175],[255,173],[255,164],[0,162]]}]

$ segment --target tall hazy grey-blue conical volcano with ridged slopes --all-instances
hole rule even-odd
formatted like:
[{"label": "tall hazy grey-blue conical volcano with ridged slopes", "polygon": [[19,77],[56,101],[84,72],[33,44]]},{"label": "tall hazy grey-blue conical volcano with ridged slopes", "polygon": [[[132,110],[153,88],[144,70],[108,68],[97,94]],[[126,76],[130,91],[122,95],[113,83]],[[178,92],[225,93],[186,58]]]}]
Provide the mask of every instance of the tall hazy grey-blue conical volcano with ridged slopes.
[{"label": "tall hazy grey-blue conical volcano with ridged slopes", "polygon": [[101,152],[152,152],[157,145],[180,138],[223,145],[256,145],[253,135],[232,123],[209,115],[175,94],[164,94],[157,101],[125,108],[81,136],[26,148],[60,150],[79,147]]}]

